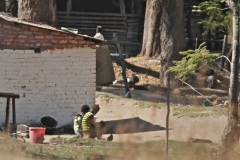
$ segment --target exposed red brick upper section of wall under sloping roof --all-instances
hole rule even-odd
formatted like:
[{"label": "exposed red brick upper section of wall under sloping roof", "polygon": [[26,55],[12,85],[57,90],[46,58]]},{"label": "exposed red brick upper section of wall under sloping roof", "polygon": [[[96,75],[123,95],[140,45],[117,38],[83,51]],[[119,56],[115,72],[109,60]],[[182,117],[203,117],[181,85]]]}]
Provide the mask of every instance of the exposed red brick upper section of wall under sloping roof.
[{"label": "exposed red brick upper section of wall under sloping roof", "polygon": [[[39,25],[41,26],[41,25]],[[76,47],[95,48],[91,38],[57,29],[48,29],[0,19],[0,48],[7,49],[69,49]]]}]

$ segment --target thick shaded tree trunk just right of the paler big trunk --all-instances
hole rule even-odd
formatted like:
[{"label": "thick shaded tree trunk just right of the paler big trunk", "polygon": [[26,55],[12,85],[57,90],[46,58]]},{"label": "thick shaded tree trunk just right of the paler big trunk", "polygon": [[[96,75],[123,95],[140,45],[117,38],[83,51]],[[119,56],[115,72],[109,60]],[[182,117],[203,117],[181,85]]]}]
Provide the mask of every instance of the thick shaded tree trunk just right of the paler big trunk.
[{"label": "thick shaded tree trunk just right of the paler big trunk", "polygon": [[[167,84],[167,70],[173,60],[180,59],[185,50],[184,0],[163,1],[160,20],[160,82]],[[172,77],[172,75],[170,75]],[[173,77],[171,78],[173,82]]]}]

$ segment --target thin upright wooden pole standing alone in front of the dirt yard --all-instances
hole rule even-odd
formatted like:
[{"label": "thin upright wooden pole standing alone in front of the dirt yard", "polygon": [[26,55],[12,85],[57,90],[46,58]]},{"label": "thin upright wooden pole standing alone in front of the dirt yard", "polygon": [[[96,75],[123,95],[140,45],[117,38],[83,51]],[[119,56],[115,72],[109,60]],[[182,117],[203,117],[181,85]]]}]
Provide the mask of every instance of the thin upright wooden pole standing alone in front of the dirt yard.
[{"label": "thin upright wooden pole standing alone in front of the dirt yard", "polygon": [[166,154],[168,154],[168,138],[169,138],[169,114],[170,114],[169,92],[170,92],[170,76],[169,73],[167,73],[167,115],[166,115],[166,140],[165,140]]}]

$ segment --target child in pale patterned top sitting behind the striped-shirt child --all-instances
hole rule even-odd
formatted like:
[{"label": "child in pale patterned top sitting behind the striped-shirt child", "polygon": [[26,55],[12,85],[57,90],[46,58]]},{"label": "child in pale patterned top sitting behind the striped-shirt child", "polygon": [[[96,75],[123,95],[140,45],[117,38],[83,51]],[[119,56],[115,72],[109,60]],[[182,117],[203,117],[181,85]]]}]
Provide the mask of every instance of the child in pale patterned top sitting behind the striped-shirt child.
[{"label": "child in pale patterned top sitting behind the striped-shirt child", "polygon": [[81,108],[81,112],[77,113],[74,118],[73,129],[77,137],[83,137],[82,133],[82,118],[83,116],[90,111],[90,107],[88,105],[83,105]]}]

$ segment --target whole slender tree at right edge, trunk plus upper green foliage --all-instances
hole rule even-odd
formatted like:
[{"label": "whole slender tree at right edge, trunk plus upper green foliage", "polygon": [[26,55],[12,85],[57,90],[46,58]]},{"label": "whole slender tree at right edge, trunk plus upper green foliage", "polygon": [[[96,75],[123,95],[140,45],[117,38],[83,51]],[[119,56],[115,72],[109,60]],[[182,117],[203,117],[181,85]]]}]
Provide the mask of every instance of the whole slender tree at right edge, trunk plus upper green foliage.
[{"label": "whole slender tree at right edge, trunk plus upper green foliage", "polygon": [[[231,14],[223,14],[219,4],[226,3]],[[204,25],[206,31],[215,31],[229,26],[229,17],[232,17],[232,63],[230,73],[230,86],[229,86],[229,111],[228,123],[224,128],[222,134],[221,152],[225,155],[230,155],[234,148],[239,143],[238,133],[238,74],[239,74],[239,5],[240,0],[211,0],[205,1],[200,4],[201,9],[207,12],[209,17],[206,17],[201,23]],[[228,158],[226,158],[228,159]]]}]

